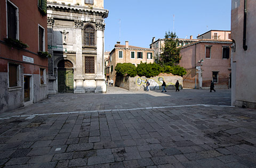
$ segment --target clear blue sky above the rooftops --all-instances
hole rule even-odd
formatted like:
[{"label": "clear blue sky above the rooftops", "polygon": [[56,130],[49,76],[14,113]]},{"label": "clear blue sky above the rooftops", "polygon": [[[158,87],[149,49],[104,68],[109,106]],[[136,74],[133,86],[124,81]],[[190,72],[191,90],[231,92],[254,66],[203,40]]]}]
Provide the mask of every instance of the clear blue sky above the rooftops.
[{"label": "clear blue sky above the rooftops", "polygon": [[105,51],[121,44],[149,48],[153,37],[164,38],[166,31],[174,31],[179,38],[189,38],[209,30],[230,30],[231,0],[105,0],[109,10],[105,19]]}]

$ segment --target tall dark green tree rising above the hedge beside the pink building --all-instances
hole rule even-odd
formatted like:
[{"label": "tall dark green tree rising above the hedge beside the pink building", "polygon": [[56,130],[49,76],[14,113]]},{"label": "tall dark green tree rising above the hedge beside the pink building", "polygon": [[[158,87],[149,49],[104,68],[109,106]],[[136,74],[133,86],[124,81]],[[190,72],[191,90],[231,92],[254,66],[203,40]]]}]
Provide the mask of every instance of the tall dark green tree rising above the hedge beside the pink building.
[{"label": "tall dark green tree rising above the hedge beside the pink building", "polygon": [[161,53],[161,62],[162,65],[177,65],[180,62],[180,48],[178,48],[178,37],[174,32],[165,32],[164,47],[163,53]]}]

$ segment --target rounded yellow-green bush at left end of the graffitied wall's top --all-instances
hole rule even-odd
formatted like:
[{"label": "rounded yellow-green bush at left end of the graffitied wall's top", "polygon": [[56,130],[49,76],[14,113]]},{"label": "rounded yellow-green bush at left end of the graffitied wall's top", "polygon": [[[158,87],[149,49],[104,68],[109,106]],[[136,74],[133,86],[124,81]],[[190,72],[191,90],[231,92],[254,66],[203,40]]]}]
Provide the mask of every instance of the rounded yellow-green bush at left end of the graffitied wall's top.
[{"label": "rounded yellow-green bush at left end of the graffitied wall's top", "polygon": [[136,66],[132,63],[117,63],[115,70],[116,74],[121,76],[129,75],[130,77],[135,77],[137,75]]}]

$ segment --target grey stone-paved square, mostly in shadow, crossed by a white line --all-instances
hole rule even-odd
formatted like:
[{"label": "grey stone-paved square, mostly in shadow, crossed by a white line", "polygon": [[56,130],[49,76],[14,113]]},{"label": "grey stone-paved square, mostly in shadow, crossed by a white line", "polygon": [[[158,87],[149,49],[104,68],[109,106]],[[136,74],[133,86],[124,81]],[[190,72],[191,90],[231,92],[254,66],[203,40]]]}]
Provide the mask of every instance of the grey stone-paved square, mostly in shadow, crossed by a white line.
[{"label": "grey stone-paved square, mostly in shadow, crossed by a white line", "polygon": [[107,90],[1,113],[0,166],[256,167],[256,111],[231,90]]}]

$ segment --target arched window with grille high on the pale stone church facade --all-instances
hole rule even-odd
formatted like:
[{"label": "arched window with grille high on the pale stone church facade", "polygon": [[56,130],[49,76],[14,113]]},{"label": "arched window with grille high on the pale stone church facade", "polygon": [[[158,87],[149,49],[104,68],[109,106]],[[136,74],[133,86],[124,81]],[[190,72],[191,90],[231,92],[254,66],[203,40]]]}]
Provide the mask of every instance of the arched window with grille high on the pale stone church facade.
[{"label": "arched window with grille high on the pale stone church facade", "polygon": [[84,27],[84,45],[95,46],[95,30],[90,24]]}]

